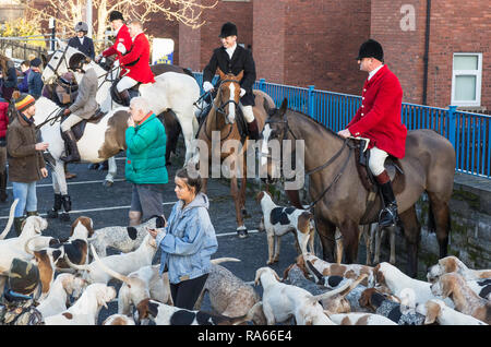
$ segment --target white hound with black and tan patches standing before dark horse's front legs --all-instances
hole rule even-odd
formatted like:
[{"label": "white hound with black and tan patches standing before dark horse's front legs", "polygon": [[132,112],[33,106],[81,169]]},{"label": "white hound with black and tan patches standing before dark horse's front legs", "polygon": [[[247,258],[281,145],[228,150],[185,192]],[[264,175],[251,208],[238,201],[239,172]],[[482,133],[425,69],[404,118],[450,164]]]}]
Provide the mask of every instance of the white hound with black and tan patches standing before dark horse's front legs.
[{"label": "white hound with black and tan patches standing before dark horse's front legs", "polygon": [[267,236],[267,265],[279,260],[280,237],[287,232],[295,234],[299,253],[307,253],[308,244],[310,251],[313,252],[315,227],[312,213],[295,207],[280,207],[273,202],[271,194],[265,191],[261,191],[255,200],[261,204],[263,212],[264,228]]}]

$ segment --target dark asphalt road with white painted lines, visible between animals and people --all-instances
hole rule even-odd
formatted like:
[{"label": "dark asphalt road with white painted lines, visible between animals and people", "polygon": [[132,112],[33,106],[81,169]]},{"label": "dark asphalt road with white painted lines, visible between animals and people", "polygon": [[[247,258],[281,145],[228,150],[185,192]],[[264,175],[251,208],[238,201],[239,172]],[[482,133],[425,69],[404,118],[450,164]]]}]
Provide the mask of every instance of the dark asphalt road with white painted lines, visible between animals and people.
[{"label": "dark asphalt road with white painted lines, visible between animals and people", "polygon": [[[179,159],[179,158],[178,158]],[[178,168],[178,161],[169,167],[169,178],[171,181],[166,186],[164,193],[164,212],[168,216],[173,203],[177,201],[173,192],[173,175]],[[69,194],[72,199],[71,220],[81,215],[88,216],[94,222],[95,229],[107,226],[125,226],[128,224],[128,211],[131,204],[131,184],[124,181],[124,155],[117,157],[118,176],[111,188],[103,187],[106,171],[88,170],[87,164],[70,164],[71,172],[76,172],[75,179],[69,180]],[[8,202],[0,204],[0,229],[7,224],[9,208],[12,203],[12,189],[9,183]],[[246,225],[250,230],[247,239],[239,239],[236,236],[236,222],[233,213],[233,202],[229,194],[229,187],[224,181],[209,180],[208,196],[211,199],[209,215],[218,238],[218,251],[214,258],[233,256],[241,260],[240,263],[223,263],[238,277],[246,282],[253,282],[256,268],[265,266],[267,260],[267,243],[265,232],[258,232],[261,219],[261,210],[253,200],[253,193],[248,194],[247,208],[251,215],[246,219]],[[53,203],[53,191],[51,177],[38,182],[37,188],[38,211],[41,216],[51,208]],[[48,219],[48,229],[45,235],[53,237],[67,237],[70,232],[71,222],[59,219]],[[12,237],[11,230],[8,237]],[[282,252],[279,263],[272,267],[283,274],[284,270],[295,261],[296,250],[294,236],[287,235],[282,240]],[[110,252],[108,252],[110,254]],[[154,264],[159,262],[159,253],[154,258]],[[110,283],[119,288],[119,284]],[[261,294],[261,288],[258,288]],[[204,302],[206,309],[207,302]],[[117,302],[109,304],[109,310],[103,309],[99,321],[117,312]]]}]

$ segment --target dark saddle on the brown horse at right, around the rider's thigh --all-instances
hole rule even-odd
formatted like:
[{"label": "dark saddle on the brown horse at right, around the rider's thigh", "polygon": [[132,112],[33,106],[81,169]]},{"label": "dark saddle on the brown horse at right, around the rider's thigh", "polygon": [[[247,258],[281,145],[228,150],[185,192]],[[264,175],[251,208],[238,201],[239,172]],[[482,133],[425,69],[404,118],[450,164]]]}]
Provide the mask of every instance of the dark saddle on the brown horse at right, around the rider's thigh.
[{"label": "dark saddle on the brown horse at right, around the rider's thigh", "polygon": [[[370,158],[370,151],[364,151],[366,142],[364,140],[352,140],[357,143],[355,146],[355,155],[357,163],[357,171],[360,180],[369,192],[376,192],[379,190],[379,186],[376,184],[375,178],[373,174],[370,171],[368,166]],[[394,193],[402,192],[404,190],[404,186],[406,184],[404,171],[400,168],[400,161],[398,158],[388,155],[384,163],[385,170],[391,178],[391,182],[394,189]]]}]

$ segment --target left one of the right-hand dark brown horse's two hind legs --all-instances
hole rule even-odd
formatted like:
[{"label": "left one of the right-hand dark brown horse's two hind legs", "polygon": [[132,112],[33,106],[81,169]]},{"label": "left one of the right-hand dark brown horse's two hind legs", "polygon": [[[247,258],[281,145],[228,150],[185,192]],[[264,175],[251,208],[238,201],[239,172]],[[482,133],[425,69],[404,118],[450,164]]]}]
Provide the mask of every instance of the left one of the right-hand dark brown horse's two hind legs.
[{"label": "left one of the right-hand dark brown horse's two hind legs", "polygon": [[421,226],[416,215],[416,206],[412,205],[409,210],[402,213],[399,218],[404,226],[404,237],[407,246],[407,275],[416,277],[418,275],[418,246],[421,237]]}]

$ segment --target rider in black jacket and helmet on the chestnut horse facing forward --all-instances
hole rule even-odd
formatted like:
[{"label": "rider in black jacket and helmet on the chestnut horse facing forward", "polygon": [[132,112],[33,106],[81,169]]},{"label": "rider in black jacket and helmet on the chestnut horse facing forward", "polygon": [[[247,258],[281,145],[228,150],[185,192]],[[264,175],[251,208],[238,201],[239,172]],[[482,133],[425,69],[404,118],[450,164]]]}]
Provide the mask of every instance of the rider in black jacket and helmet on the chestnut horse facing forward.
[{"label": "rider in black jacket and helmet on the chestnut horse facing forward", "polygon": [[[254,94],[252,94],[252,85],[255,81],[255,63],[252,52],[237,45],[237,26],[233,23],[227,22],[221,26],[219,38],[223,46],[213,51],[212,59],[203,70],[203,89],[205,92],[214,91],[212,80],[217,68],[220,68],[224,73],[231,72],[235,75],[243,70],[243,77],[240,81],[241,98],[239,107],[248,122],[249,137],[258,140],[258,121],[252,111],[252,107],[255,105]],[[217,85],[219,83],[220,81],[217,82]]]}]

